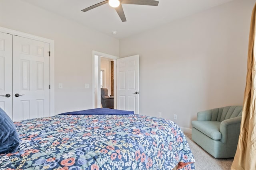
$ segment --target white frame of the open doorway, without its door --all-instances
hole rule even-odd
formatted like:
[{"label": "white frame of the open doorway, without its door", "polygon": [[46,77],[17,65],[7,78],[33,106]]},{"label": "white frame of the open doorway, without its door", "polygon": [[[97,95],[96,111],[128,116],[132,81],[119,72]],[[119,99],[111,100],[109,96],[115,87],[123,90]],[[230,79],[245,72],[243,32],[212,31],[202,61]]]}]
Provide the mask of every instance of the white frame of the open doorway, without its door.
[{"label": "white frame of the open doorway, without its door", "polygon": [[[119,57],[92,51],[92,108],[100,108],[100,57],[114,60],[114,96],[116,96],[116,60]],[[98,68],[96,70],[96,68]],[[96,70],[96,71],[95,71]],[[95,97],[97,96],[97,98]],[[96,101],[97,100],[97,101]],[[97,105],[97,106],[96,106]],[[116,109],[116,97],[114,97],[114,109]]]}]

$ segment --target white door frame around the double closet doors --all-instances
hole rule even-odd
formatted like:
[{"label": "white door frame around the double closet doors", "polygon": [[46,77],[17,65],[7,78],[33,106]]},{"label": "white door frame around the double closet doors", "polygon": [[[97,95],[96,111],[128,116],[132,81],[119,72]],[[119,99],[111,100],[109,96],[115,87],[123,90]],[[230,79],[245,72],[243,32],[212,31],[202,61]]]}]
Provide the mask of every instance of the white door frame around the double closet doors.
[{"label": "white door frame around the double closet doors", "polygon": [[20,31],[15,31],[5,27],[0,27],[0,32],[49,43],[50,52],[51,52],[50,53],[50,116],[54,116],[55,115],[54,113],[54,40],[38,37],[36,35],[31,35],[31,34],[23,33]]}]

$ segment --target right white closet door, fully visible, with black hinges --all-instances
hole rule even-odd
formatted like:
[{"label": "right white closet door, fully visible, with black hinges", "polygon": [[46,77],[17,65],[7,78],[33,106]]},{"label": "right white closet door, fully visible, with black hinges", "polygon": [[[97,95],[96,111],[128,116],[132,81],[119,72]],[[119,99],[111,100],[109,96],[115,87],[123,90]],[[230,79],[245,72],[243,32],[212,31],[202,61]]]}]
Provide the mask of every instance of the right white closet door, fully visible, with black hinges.
[{"label": "right white closet door, fully visible, with black hinges", "polygon": [[50,44],[13,36],[13,121],[50,116]]}]

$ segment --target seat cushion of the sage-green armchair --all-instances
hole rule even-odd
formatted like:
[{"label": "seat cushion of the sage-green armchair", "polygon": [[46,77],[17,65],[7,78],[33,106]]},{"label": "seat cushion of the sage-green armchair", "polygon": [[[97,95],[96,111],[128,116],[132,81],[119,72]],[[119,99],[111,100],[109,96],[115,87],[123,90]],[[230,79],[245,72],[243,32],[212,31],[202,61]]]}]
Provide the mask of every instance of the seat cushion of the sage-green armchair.
[{"label": "seat cushion of the sage-green armchair", "polygon": [[192,121],[192,126],[213,140],[221,139],[219,121]]}]

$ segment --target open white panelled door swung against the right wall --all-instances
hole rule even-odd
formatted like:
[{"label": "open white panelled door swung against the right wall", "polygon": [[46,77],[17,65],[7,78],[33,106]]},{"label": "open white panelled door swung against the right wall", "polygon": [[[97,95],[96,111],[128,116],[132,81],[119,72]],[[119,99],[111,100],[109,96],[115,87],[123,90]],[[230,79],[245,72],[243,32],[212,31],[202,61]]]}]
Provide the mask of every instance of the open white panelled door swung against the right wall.
[{"label": "open white panelled door swung against the right wall", "polygon": [[117,109],[139,114],[139,55],[117,59]]}]

